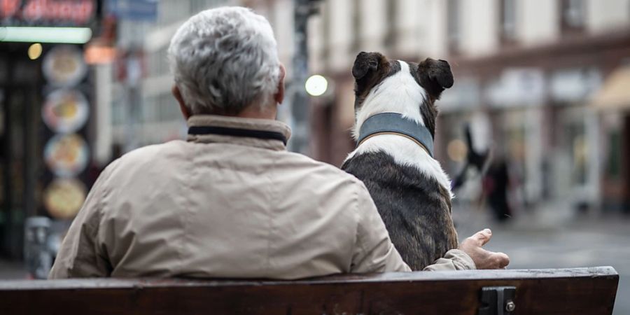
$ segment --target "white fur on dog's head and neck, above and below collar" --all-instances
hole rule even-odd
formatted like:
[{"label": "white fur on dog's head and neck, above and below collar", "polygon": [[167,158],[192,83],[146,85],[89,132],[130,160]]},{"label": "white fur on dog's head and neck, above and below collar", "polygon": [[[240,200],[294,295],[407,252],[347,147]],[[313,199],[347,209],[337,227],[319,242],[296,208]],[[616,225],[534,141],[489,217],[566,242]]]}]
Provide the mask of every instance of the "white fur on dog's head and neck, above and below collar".
[{"label": "white fur on dog's head and neck, above and below collar", "polygon": [[[360,136],[363,123],[379,113],[399,113],[402,118],[425,126],[419,104],[426,106],[427,93],[409,74],[409,65],[406,62],[400,62],[400,66],[398,73],[379,83],[365,98],[363,106],[356,113],[356,124],[353,128],[355,140]],[[377,134],[370,139],[365,139],[348,155],[346,160],[355,155],[377,152],[388,153],[400,165],[415,167],[426,176],[435,179],[451,194],[451,198],[454,197],[451,193],[449,177],[440,163],[412,139],[399,134]]]}]

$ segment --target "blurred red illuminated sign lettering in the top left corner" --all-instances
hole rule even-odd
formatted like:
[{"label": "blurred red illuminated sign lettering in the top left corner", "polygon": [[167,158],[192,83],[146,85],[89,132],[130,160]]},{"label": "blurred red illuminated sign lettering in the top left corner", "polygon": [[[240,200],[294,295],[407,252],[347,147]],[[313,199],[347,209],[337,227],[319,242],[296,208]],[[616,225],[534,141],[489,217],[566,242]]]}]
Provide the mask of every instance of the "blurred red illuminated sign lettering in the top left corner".
[{"label": "blurred red illuminated sign lettering in the top left corner", "polygon": [[94,0],[0,0],[0,21],[4,26],[82,26],[92,22]]}]

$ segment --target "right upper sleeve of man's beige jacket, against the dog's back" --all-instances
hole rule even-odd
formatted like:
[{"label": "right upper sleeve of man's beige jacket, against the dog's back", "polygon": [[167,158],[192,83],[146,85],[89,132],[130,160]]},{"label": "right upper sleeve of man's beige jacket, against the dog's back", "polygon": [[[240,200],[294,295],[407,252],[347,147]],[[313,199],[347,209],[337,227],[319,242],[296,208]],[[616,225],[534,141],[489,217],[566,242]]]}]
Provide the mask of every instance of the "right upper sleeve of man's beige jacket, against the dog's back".
[{"label": "right upper sleeve of man's beige jacket, against the dog's back", "polygon": [[385,223],[383,223],[370,193],[367,192],[367,188],[363,186],[363,183],[360,183],[358,188],[355,202],[358,225],[350,272],[411,271],[391,243],[389,234],[385,229]]}]

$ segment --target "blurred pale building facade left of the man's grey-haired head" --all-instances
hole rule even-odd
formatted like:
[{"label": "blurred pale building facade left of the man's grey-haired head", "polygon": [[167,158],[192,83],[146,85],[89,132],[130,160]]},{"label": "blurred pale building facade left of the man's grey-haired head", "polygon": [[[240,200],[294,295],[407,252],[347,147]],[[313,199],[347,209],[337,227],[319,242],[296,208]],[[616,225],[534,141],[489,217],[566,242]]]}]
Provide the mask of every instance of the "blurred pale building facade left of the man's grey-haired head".
[{"label": "blurred pale building facade left of the man's grey-haired head", "polygon": [[118,21],[117,47],[121,57],[113,65],[111,141],[120,152],[139,146],[183,139],[186,124],[171,94],[173,77],[167,49],[175,31],[201,10],[238,5],[229,0],[162,0],[154,20]]}]

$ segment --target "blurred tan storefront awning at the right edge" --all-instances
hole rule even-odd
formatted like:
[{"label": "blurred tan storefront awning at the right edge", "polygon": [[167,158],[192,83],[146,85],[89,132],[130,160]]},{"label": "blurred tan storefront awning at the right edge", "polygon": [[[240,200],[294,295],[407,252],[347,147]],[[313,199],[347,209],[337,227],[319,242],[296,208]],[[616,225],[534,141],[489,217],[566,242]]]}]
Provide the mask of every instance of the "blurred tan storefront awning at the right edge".
[{"label": "blurred tan storefront awning at the right edge", "polygon": [[630,109],[630,66],[622,66],[606,78],[592,106],[601,111]]}]

